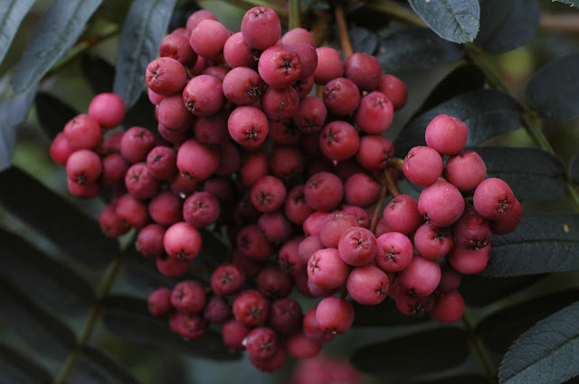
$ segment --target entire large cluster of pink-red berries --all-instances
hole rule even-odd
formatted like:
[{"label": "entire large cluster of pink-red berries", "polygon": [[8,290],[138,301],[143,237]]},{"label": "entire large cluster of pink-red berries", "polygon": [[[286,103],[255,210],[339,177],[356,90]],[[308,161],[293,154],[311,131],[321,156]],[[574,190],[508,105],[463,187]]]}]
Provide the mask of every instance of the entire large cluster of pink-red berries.
[{"label": "entire large cluster of pink-red berries", "polygon": [[[380,218],[385,185],[398,177],[382,134],[406,87],[374,56],[343,61],[301,28],[281,36],[267,7],[249,10],[240,33],[195,12],[163,39],[159,56],[146,71],[157,132],[133,126],[103,137],[125,108],[100,94],[51,147],[72,194],[113,189],[101,229],[112,238],[135,229],[136,248],[166,276],[189,270],[201,229],[227,233],[233,249],[210,287],[159,288],[148,299],[152,314],[169,316],[187,340],[221,324],[223,342],[266,371],[286,353],[313,357],[346,332],[351,300],[373,305],[391,295],[404,314],[460,318],[460,273],[482,270],[491,233],[514,229],[520,216],[508,185],[484,180],[476,153],[460,155],[460,120],[432,120],[428,146],[403,162],[406,177],[426,186],[421,199],[390,188]],[[314,85],[321,99],[310,96]],[[448,182],[438,181],[441,155],[452,156]],[[465,210],[472,191],[474,209]],[[304,314],[289,298],[294,287],[322,299]]]}]

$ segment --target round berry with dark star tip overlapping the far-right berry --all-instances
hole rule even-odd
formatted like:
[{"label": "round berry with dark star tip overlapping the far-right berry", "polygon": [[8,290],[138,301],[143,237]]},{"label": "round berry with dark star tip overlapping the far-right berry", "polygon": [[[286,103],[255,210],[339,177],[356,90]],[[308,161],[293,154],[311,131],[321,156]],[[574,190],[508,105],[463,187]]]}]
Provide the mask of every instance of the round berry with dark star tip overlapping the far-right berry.
[{"label": "round berry with dark star tip overlapping the far-right berry", "polygon": [[472,196],[474,209],[485,219],[499,220],[508,215],[515,205],[515,195],[508,183],[496,177],[479,183]]}]

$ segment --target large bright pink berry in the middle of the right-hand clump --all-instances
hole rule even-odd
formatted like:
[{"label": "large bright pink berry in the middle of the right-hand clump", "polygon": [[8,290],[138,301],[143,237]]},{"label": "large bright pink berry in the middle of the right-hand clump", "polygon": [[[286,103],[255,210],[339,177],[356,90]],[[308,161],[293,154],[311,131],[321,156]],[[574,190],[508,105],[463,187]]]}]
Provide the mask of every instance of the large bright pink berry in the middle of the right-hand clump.
[{"label": "large bright pink berry in the middle of the right-hand clump", "polygon": [[437,182],[424,188],[418,199],[418,211],[435,227],[448,227],[460,219],[464,199],[451,183]]}]

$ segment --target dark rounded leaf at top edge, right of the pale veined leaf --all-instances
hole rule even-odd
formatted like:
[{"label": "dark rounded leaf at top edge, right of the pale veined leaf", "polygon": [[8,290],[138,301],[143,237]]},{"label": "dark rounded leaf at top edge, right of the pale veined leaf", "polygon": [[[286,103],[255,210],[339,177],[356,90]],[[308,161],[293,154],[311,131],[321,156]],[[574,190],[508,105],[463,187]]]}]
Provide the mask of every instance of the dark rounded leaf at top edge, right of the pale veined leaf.
[{"label": "dark rounded leaf at top edge, right of the pale veined leaf", "polygon": [[480,3],[480,31],[474,42],[493,53],[512,51],[533,37],[540,17],[536,0],[484,0]]}]

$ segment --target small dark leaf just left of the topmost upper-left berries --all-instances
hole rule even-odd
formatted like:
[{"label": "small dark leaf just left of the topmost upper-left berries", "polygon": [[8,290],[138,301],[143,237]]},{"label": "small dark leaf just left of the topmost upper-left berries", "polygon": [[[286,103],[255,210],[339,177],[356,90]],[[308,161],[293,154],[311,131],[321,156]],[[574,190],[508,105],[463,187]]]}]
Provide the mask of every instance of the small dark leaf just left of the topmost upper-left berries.
[{"label": "small dark leaf just left of the topmost upper-left berries", "polygon": [[64,101],[46,92],[38,92],[34,104],[36,105],[36,114],[40,124],[51,139],[62,132],[62,129],[72,117],[80,113]]}]

